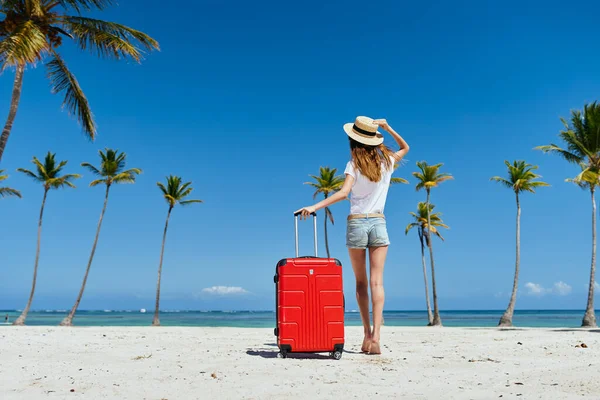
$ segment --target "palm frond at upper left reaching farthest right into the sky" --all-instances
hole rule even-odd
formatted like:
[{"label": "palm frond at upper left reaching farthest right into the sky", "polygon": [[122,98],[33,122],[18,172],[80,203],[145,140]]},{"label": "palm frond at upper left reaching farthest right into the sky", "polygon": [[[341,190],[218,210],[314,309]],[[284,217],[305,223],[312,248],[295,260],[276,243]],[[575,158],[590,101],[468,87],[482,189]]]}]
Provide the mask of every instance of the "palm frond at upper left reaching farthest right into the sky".
[{"label": "palm frond at upper left reaching farthest right into the sky", "polygon": [[148,51],[159,49],[158,42],[150,36],[114,22],[78,16],[66,17],[62,23],[75,37],[79,47],[95,51],[101,57],[114,57],[117,60],[131,57],[139,63],[142,61],[142,50],[134,42]]}]

